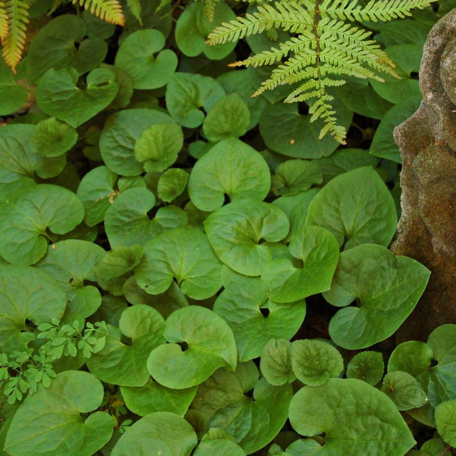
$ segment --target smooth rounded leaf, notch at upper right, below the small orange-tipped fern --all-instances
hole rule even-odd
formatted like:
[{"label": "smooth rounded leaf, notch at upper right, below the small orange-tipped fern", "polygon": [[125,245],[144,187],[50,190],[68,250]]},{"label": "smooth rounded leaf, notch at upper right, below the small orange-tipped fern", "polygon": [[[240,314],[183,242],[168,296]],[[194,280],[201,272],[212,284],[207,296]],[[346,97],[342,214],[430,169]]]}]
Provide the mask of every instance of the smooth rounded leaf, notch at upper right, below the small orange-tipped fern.
[{"label": "smooth rounded leaf, notch at upper right, below the small orange-tipped fern", "polygon": [[163,46],[163,34],[150,29],[138,30],[122,42],[115,65],[131,77],[134,89],[156,89],[168,83],[177,57],[170,49],[161,51]]}]

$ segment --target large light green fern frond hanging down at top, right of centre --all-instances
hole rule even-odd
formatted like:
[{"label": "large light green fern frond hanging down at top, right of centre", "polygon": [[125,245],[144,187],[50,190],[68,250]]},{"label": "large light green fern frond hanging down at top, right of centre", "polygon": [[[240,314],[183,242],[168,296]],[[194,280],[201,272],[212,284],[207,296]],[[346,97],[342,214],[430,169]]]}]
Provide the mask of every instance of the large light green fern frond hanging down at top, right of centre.
[{"label": "large light green fern frond hanging down at top, right of centre", "polygon": [[[388,21],[410,16],[414,8],[425,8],[434,0],[370,0],[362,7],[357,0],[278,0],[258,6],[258,11],[217,27],[208,38],[215,45],[227,40],[281,28],[296,33],[278,48],[264,51],[232,66],[261,66],[282,62],[272,71],[253,96],[277,85],[304,81],[285,102],[308,101],[311,121],[324,122],[320,138],[326,133],[345,144],[345,129],[337,125],[328,87],[345,83],[343,76],[383,81],[381,72],[397,76],[394,64],[380,49],[371,32],[350,24],[353,21]],[[347,22],[349,21],[349,22]],[[292,55],[290,55],[292,54]],[[330,78],[328,75],[337,75]]]}]

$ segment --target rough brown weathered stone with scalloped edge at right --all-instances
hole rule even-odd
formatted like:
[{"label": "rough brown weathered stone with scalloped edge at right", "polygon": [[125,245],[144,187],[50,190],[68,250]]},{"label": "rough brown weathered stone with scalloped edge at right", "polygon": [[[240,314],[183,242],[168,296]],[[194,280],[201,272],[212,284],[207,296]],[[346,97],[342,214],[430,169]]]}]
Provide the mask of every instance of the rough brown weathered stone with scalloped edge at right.
[{"label": "rough brown weathered stone with scalloped edge at right", "polygon": [[456,9],[429,33],[420,67],[420,108],[394,130],[402,156],[401,207],[396,255],[431,271],[416,310],[397,341],[426,340],[456,323]]}]

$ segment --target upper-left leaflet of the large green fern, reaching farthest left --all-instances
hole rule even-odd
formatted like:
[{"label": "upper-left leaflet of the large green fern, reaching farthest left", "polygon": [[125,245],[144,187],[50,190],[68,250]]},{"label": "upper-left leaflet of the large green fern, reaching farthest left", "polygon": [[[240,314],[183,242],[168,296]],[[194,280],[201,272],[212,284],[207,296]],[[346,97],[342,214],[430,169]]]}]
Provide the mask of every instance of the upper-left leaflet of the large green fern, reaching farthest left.
[{"label": "upper-left leaflet of the large green fern, reaching farthest left", "polygon": [[[275,8],[274,8],[275,7]],[[209,34],[206,44],[223,44],[236,41],[269,30],[272,27],[282,28],[289,33],[304,33],[313,27],[313,19],[308,11],[296,3],[277,2],[271,5],[258,6],[258,11],[247,13],[245,17],[224,22]]]}]

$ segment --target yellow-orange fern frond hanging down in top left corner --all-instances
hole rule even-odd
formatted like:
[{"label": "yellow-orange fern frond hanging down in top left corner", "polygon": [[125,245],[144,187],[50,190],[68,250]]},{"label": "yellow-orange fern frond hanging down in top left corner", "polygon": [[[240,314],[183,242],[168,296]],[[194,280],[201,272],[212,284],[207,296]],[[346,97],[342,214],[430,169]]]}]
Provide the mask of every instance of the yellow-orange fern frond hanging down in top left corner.
[{"label": "yellow-orange fern frond hanging down in top left corner", "polygon": [[4,40],[2,54],[7,65],[16,73],[25,46],[29,5],[22,0],[6,0],[5,7],[9,32]]}]

